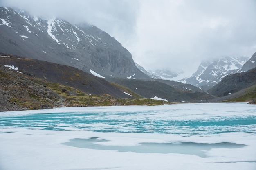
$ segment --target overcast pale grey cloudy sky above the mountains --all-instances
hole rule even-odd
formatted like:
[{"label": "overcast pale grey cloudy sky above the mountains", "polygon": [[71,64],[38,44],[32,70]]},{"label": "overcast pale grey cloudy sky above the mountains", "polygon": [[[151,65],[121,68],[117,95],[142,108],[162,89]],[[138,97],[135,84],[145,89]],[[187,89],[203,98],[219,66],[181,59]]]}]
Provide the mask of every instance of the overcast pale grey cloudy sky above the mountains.
[{"label": "overcast pale grey cloudy sky above the mountains", "polygon": [[149,69],[196,71],[202,60],[256,52],[256,0],[0,0],[34,15],[89,22]]}]

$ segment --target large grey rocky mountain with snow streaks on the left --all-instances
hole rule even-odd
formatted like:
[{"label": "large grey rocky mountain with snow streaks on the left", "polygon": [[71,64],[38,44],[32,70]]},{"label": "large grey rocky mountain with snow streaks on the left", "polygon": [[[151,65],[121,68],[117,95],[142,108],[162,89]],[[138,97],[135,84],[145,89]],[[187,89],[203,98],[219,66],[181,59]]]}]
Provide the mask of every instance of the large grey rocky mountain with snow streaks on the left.
[{"label": "large grey rocky mountain with snow streaks on the left", "polygon": [[128,50],[96,26],[0,7],[0,30],[3,53],[73,66],[102,78],[151,79]]}]

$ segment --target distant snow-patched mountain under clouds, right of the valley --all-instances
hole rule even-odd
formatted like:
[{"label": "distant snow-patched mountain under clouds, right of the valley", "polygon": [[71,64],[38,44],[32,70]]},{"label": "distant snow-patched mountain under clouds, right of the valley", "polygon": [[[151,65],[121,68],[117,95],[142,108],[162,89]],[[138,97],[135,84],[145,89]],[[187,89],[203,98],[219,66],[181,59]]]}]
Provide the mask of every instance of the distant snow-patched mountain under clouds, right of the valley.
[{"label": "distant snow-patched mountain under clouds, right of the valley", "polygon": [[245,70],[239,69],[242,68],[248,59],[245,56],[224,56],[213,61],[203,61],[191,77],[180,81],[208,90],[229,74],[245,72]]}]

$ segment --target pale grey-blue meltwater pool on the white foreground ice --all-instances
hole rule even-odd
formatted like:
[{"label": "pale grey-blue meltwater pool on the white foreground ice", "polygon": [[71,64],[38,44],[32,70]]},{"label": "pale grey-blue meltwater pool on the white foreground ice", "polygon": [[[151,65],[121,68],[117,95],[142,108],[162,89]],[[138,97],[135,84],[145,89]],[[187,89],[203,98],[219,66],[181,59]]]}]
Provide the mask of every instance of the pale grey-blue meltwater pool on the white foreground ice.
[{"label": "pale grey-blue meltwater pool on the white foreground ice", "polygon": [[199,157],[207,157],[206,152],[212,148],[242,148],[246,145],[235,144],[229,142],[222,143],[139,143],[137,146],[105,146],[98,142],[108,142],[105,139],[91,137],[89,139],[74,138],[63,144],[78,148],[99,149],[99,150],[117,150],[118,152],[135,152],[135,153],[180,153],[198,155]]}]

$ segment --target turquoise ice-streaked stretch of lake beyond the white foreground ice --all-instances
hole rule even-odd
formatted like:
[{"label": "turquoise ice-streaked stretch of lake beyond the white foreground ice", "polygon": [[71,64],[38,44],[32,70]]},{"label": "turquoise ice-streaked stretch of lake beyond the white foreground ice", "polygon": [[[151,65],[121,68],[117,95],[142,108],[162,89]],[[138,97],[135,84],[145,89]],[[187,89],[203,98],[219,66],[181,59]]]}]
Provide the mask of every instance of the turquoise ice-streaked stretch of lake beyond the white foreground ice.
[{"label": "turquoise ice-streaked stretch of lake beyond the white foreground ice", "polygon": [[0,128],[169,134],[256,133],[256,107],[242,103],[76,107],[19,113],[0,112]]}]

